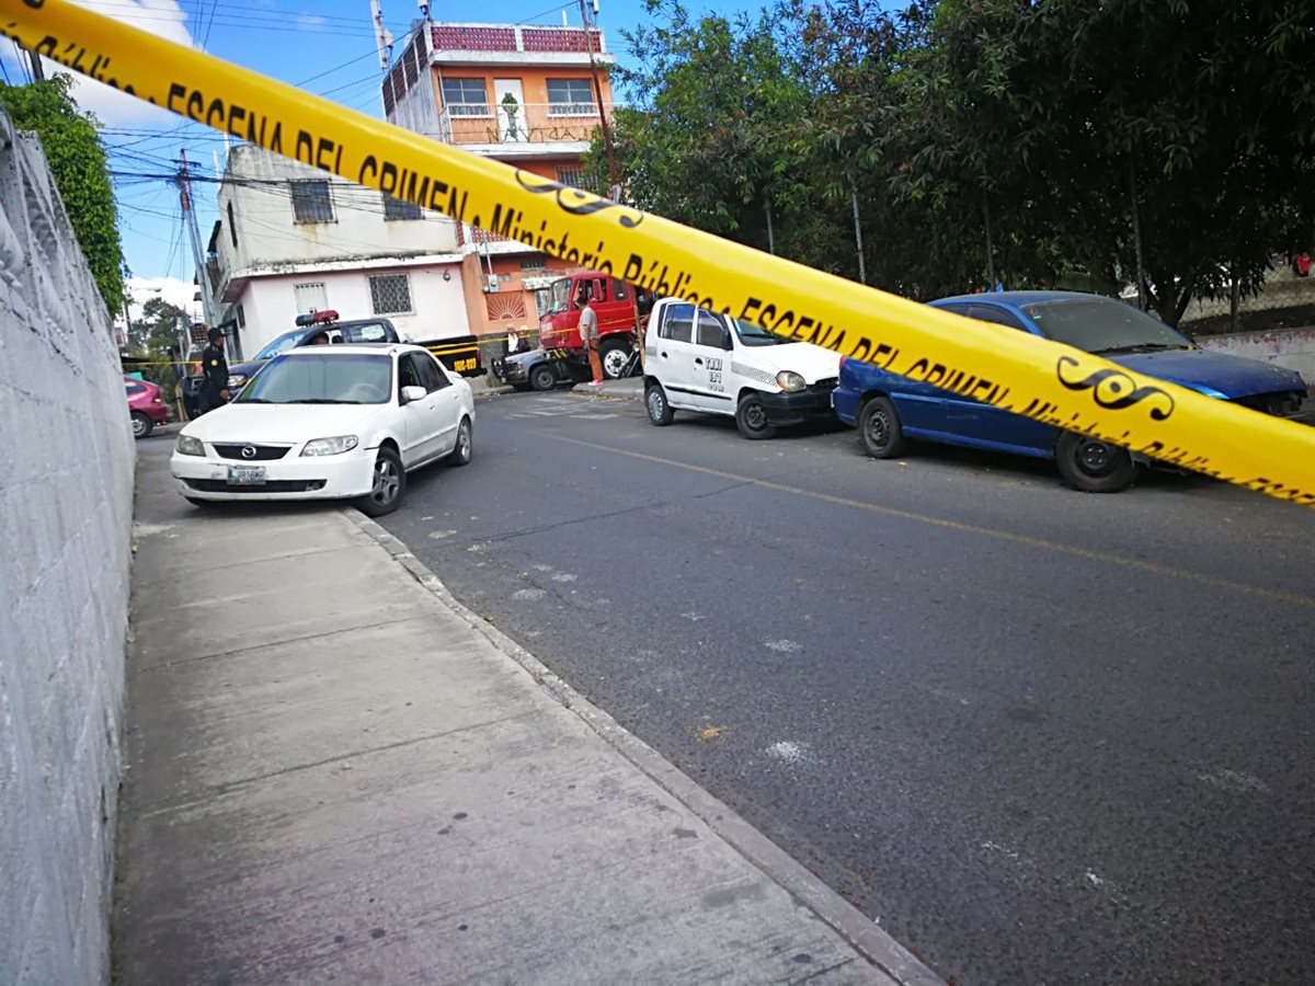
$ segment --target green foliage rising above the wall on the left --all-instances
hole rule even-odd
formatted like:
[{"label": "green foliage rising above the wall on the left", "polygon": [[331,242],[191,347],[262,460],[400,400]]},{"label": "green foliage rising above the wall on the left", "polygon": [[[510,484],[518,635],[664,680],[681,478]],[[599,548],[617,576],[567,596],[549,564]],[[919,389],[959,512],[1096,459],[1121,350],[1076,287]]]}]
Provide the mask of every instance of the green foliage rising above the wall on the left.
[{"label": "green foliage rising above the wall on the left", "polygon": [[71,83],[63,74],[30,85],[0,83],[0,104],[18,130],[34,130],[41,137],[55,187],[96,287],[105,306],[118,312],[124,304],[124,250],[114,189],[99,124],[78,109],[68,95]]}]

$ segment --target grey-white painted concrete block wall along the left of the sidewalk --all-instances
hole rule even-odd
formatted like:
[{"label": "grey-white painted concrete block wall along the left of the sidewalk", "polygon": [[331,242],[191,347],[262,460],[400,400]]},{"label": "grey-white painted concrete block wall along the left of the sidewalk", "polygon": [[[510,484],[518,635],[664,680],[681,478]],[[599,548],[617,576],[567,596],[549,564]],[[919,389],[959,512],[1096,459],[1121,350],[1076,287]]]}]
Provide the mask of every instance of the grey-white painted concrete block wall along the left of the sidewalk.
[{"label": "grey-white painted concrete block wall along the left of the sidewalk", "polygon": [[105,982],[134,450],[109,314],[0,112],[0,982]]}]

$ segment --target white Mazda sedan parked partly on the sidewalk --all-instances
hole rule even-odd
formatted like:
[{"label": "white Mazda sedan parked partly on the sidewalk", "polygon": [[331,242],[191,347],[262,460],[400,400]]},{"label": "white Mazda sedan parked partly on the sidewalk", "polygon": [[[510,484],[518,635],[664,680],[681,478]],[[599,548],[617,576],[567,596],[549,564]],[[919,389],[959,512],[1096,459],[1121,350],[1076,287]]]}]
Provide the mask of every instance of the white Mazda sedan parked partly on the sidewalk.
[{"label": "white Mazda sedan parked partly on the sidewalk", "polygon": [[379,517],[397,509],[412,469],[466,465],[473,429],[471,385],[419,346],[309,346],[188,423],[170,471],[199,506],[355,500]]}]

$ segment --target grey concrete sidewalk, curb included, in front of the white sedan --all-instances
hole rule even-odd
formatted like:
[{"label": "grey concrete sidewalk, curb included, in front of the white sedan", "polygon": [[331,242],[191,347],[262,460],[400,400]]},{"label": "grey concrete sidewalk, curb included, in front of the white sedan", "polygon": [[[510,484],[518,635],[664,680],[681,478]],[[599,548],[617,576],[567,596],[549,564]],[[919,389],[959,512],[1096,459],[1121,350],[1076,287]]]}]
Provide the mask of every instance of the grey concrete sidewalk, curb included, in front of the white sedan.
[{"label": "grey concrete sidewalk, curb included, in front of the white sedan", "polygon": [[934,982],[383,528],[196,510],[171,444],[138,443],[117,982]]}]

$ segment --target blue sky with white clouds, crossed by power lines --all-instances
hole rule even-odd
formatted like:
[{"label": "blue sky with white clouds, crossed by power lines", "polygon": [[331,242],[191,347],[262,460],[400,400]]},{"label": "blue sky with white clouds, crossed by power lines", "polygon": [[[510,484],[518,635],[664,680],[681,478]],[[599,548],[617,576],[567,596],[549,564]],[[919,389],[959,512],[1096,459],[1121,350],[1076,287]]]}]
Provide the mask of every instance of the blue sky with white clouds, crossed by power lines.
[{"label": "blue sky with white clouds, crossed by power lines", "polygon": [[[383,70],[375,47],[370,0],[76,0],[83,7],[133,24],[212,55],[299,85],[351,109],[381,117],[379,83]],[[431,17],[447,22],[555,24],[563,11],[580,24],[577,3],[551,0],[484,0],[476,8],[434,4]],[[643,0],[598,0],[598,22],[609,51],[625,60],[621,30],[644,22]],[[756,8],[755,0],[694,0],[692,12]],[[414,0],[381,0],[385,25],[401,54]],[[477,11],[472,16],[471,11]],[[12,45],[0,39],[0,70],[18,84],[26,66]],[[63,71],[47,63],[47,75]],[[74,95],[103,124],[118,201],[120,231],[132,272],[130,292],[139,306],[163,293],[174,304],[191,304],[195,264],[183,229],[178,191],[166,180],[185,153],[193,174],[214,176],[222,167],[224,137],[200,124],[175,117],[100,83],[82,80]],[[216,187],[199,184],[197,221],[203,246],[217,218]],[[135,310],[134,310],[135,317]]]}]

